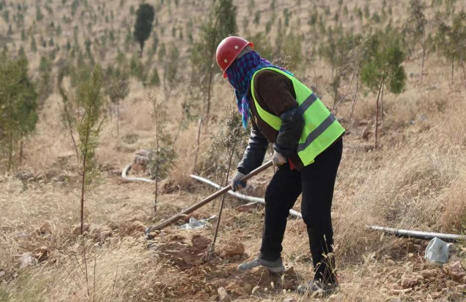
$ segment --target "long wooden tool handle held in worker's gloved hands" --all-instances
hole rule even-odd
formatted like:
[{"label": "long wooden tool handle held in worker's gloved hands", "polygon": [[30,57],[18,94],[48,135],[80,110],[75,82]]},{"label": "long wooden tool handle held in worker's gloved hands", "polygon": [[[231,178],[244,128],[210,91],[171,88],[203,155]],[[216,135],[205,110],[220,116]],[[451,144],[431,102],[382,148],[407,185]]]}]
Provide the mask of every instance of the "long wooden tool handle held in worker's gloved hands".
[{"label": "long wooden tool handle held in worker's gloved hands", "polygon": [[[273,165],[273,162],[272,161],[268,161],[267,163],[265,163],[264,165],[260,166],[259,168],[251,171],[248,175],[245,175],[241,180],[242,181],[247,181],[248,179],[250,179],[251,177],[261,173],[262,171],[266,170],[267,168],[269,168],[270,166]],[[170,225],[178,220],[180,220],[181,218],[183,218],[184,216],[186,216],[186,214],[189,214],[189,213],[192,213],[193,211],[195,211],[196,209],[198,209],[199,207],[203,206],[204,204],[210,202],[210,201],[213,201],[214,199],[216,199],[217,197],[227,193],[228,191],[230,191],[232,188],[231,188],[231,185],[230,186],[227,186],[225,188],[223,188],[222,190],[219,190],[217,192],[215,192],[214,194],[210,195],[209,197],[206,197],[205,199],[191,205],[190,207],[186,208],[184,211],[176,214],[175,216],[172,216],[168,219],[165,219],[164,221],[160,222],[159,224],[156,224],[156,225],[153,225],[151,227],[148,227],[146,229],[146,234],[149,234],[150,232],[152,231],[155,231],[155,230],[160,230],[164,227],[166,227],[167,225]]]}]

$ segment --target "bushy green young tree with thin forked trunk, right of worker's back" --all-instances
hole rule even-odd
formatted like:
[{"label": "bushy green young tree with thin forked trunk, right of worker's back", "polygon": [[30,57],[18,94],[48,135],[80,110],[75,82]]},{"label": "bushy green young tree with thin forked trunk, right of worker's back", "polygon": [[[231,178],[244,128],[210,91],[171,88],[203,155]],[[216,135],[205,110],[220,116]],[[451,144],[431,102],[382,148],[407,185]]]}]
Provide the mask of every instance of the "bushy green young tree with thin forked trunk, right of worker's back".
[{"label": "bushy green young tree with thin forked trunk, right of worker's back", "polygon": [[[378,140],[379,111],[383,116],[383,92],[400,94],[406,84],[403,63],[405,54],[400,33],[388,28],[377,31],[365,41],[361,64],[361,82],[377,94],[375,101],[374,148]],[[379,110],[379,107],[381,110]]]}]

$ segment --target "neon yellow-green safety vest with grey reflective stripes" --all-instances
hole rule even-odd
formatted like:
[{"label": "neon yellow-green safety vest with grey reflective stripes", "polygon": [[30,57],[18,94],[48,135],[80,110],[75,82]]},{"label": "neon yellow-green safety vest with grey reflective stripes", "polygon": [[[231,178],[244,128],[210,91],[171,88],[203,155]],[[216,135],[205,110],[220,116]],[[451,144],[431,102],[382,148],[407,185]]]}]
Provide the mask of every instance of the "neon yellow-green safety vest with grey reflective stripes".
[{"label": "neon yellow-green safety vest with grey reflective stripes", "polygon": [[296,152],[304,166],[312,164],[317,155],[327,149],[345,132],[345,128],[343,128],[338,120],[335,119],[335,116],[330,113],[322,101],[320,101],[320,99],[304,84],[280,69],[267,67],[258,70],[253,75],[253,78],[251,79],[251,93],[256,105],[257,113],[272,128],[277,131],[280,130],[280,117],[262,108],[254,94],[254,78],[258,72],[264,69],[270,69],[278,72],[286,76],[293,83],[296,102],[299,104],[299,108],[301,109],[304,117],[304,127]]}]

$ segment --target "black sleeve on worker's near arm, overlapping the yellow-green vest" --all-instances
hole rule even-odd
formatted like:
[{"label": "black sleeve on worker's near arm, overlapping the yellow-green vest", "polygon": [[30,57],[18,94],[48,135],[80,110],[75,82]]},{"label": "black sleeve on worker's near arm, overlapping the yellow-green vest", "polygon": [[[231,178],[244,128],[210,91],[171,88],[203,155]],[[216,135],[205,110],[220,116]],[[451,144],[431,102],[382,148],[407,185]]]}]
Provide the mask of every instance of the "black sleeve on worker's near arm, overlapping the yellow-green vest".
[{"label": "black sleeve on worker's near arm, overlapping the yellow-green vest", "polygon": [[274,144],[275,150],[284,157],[289,157],[296,152],[302,128],[304,127],[304,117],[299,107],[292,108],[280,115],[281,127]]}]

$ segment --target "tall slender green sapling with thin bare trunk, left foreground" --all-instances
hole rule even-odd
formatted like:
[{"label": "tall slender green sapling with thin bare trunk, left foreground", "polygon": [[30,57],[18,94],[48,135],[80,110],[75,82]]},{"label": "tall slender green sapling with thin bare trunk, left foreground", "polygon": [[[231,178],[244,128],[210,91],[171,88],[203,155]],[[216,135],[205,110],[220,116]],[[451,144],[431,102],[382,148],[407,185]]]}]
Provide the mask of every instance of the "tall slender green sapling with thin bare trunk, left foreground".
[{"label": "tall slender green sapling with thin bare trunk, left foreground", "polygon": [[95,149],[98,144],[98,136],[102,128],[104,118],[102,118],[102,107],[104,99],[100,94],[101,69],[96,66],[91,79],[86,84],[81,103],[84,108],[84,115],[78,125],[79,151],[81,166],[81,234],[84,232],[84,201],[87,187],[92,183],[97,173],[97,163]]}]

